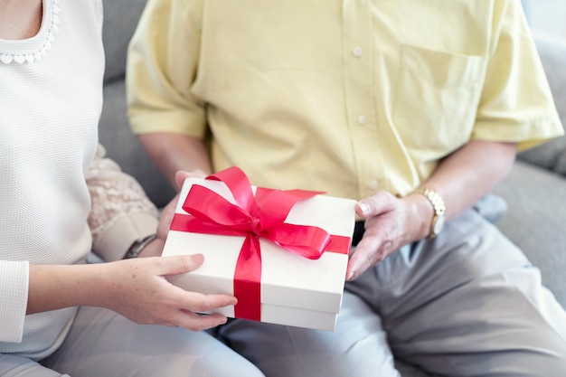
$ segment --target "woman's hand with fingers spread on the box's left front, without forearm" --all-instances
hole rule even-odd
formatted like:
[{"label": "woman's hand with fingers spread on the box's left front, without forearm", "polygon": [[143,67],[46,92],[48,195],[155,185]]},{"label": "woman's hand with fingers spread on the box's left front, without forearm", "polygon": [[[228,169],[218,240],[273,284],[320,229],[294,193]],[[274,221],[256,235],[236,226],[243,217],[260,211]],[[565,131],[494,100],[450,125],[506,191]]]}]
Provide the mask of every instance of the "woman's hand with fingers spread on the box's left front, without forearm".
[{"label": "woman's hand with fingers spread on the box's left front, without forearm", "polygon": [[222,306],[232,306],[236,297],[203,295],[175,287],[167,276],[198,269],[202,254],[125,259],[106,263],[100,287],[107,287],[103,306],[126,316],[137,324],[181,326],[193,331],[204,330],[226,322],[219,314],[199,315]]}]

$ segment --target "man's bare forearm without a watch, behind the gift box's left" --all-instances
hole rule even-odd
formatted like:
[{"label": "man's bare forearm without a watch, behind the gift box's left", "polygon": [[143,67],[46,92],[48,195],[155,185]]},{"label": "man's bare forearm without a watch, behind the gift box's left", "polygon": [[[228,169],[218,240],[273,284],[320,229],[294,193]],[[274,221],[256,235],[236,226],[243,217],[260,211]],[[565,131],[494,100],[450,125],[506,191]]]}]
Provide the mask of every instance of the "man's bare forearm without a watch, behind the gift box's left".
[{"label": "man's bare forearm without a watch, behind the gift box's left", "polygon": [[212,173],[209,152],[202,140],[181,134],[154,133],[138,136],[141,146],[165,178],[178,189],[175,174],[179,170]]}]

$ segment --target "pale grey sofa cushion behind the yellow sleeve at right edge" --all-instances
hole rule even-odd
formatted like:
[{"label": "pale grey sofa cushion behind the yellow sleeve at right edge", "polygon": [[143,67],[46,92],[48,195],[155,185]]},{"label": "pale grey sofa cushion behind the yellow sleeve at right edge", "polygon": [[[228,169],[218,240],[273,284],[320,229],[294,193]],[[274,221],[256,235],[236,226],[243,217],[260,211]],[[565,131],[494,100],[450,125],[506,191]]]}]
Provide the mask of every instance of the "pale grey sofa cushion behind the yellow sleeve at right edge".
[{"label": "pale grey sofa cushion behind the yellow sleeve at right edge", "polygon": [[[562,38],[535,32],[534,42],[541,56],[542,66],[551,85],[556,108],[566,125],[566,41]],[[529,149],[518,156],[519,159],[542,166],[553,172],[566,175],[566,136],[552,139],[542,146]]]}]

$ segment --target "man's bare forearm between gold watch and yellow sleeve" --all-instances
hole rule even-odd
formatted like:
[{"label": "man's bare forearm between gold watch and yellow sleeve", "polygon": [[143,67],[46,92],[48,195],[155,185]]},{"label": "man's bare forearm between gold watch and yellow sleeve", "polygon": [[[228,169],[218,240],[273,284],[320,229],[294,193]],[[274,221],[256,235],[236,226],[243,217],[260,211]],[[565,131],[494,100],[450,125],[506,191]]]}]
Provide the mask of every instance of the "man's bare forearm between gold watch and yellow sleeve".
[{"label": "man's bare forearm between gold watch and yellow sleeve", "polygon": [[515,156],[514,143],[472,140],[446,157],[422,186],[440,193],[447,219],[453,219],[505,178]]}]

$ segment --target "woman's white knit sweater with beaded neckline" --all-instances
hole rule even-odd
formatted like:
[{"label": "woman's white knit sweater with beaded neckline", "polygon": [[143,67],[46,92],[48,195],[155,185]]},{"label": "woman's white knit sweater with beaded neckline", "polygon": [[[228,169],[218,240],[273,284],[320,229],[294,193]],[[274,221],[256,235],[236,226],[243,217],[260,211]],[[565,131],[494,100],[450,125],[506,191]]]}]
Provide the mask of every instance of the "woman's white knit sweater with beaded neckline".
[{"label": "woman's white knit sweater with beaded neckline", "polygon": [[102,103],[101,7],[43,0],[36,36],[0,40],[0,353],[41,359],[75,313],[25,316],[28,266],[80,263],[90,251],[85,175]]}]

